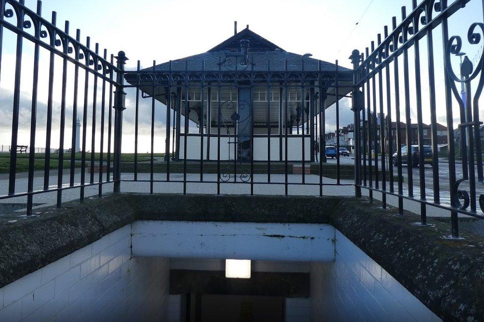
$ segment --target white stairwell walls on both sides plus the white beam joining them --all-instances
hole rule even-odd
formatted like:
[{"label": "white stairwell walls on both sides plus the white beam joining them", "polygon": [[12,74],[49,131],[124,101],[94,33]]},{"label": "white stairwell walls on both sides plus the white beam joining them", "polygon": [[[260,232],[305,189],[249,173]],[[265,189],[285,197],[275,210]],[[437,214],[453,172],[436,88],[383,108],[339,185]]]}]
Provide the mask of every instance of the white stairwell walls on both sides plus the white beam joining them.
[{"label": "white stairwell walls on both sides plus the white beam joining them", "polygon": [[286,299],[287,321],[440,321],[332,226],[170,221],[135,222],[6,285],[0,321],[177,321],[170,268],[223,270],[225,258],[310,272],[311,304]]}]

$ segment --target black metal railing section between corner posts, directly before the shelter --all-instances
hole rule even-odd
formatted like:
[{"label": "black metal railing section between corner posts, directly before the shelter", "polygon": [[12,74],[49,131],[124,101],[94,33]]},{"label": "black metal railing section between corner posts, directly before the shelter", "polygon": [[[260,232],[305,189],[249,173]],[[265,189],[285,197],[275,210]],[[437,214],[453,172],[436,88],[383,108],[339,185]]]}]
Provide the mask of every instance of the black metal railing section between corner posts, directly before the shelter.
[{"label": "black metal railing section between corner posts, directly before the shelter", "polygon": [[[230,59],[234,62],[227,64]],[[292,185],[319,186],[320,195],[324,186],[354,185],[341,181],[339,153],[334,154],[335,182],[323,182],[322,175],[306,180],[325,168],[326,109],[335,107],[339,129],[339,100],[349,97],[352,90],[351,70],[339,69],[337,62],[326,70],[321,61],[307,70],[306,57],[301,58],[299,69],[289,69],[287,61],[278,69],[270,60],[261,69],[253,61],[237,57],[219,57],[217,64],[209,64],[216,69],[206,68],[205,61],[199,69],[190,69],[194,62],[190,58],[177,66],[153,62],[145,69],[140,69],[138,62],[137,70],[125,72],[128,84],[124,88],[135,95],[131,99],[135,155],[133,167],[125,171],[121,182],[149,183],[150,193],[156,183],[182,183],[183,193],[187,193],[187,184],[208,183],[216,185],[218,194],[225,184],[246,184],[251,194],[256,185],[284,186],[285,194]],[[147,100],[150,109],[144,104]],[[151,114],[150,134],[145,136],[150,139],[149,169],[141,169],[138,157],[138,120],[143,104],[144,111]],[[161,129],[156,125],[156,113],[166,120]],[[155,150],[163,150],[156,144],[159,138],[165,140],[165,154],[157,160]],[[339,135],[335,143],[339,148]],[[312,172],[305,170],[310,164]],[[301,167],[297,176],[294,167]],[[141,178],[140,173],[149,178]],[[155,174],[159,174],[158,179]]]}]

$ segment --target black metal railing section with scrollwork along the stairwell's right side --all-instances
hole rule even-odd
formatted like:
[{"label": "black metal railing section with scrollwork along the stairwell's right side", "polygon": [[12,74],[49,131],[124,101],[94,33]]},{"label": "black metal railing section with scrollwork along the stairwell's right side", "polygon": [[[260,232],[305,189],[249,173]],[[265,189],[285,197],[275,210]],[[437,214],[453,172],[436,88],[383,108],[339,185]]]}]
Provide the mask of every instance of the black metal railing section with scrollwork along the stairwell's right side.
[{"label": "black metal railing section with scrollwork along the stairwell's right side", "polygon": [[[473,1],[424,0],[418,4],[413,0],[410,14],[407,15],[402,7],[400,24],[397,25],[393,17],[391,30],[384,27],[383,39],[378,34],[376,45],[372,42],[364,54],[355,50],[351,56],[355,66],[354,98],[360,100],[362,106],[355,112],[355,122],[359,124],[361,135],[356,169],[363,172],[363,180],[358,177],[356,186],[368,190],[370,198],[374,197],[374,192],[381,193],[383,207],[387,206],[387,195],[396,196],[400,213],[404,210],[404,199],[419,202],[423,225],[426,224],[427,206],[449,210],[453,237],[459,236],[458,213],[484,218],[483,123],[479,119],[479,100],[484,85],[483,55],[481,52],[473,64],[461,52],[461,37],[449,37],[448,27],[448,20],[469,2]],[[482,9],[481,4],[478,5]],[[480,44],[483,32],[482,21],[470,24],[469,44]],[[434,41],[434,34],[441,35],[441,41]],[[436,55],[442,55],[441,63]],[[457,76],[452,57],[459,56],[464,56],[464,61],[461,61],[460,76]],[[435,76],[438,72],[443,75],[440,83]],[[462,93],[459,93],[458,83],[464,84]],[[471,90],[471,84],[477,85],[476,90]],[[437,105],[439,85],[443,87],[444,101]],[[423,89],[428,91],[428,97],[424,97]],[[460,115],[458,125],[454,125],[453,105]],[[404,123],[401,123],[402,112]],[[429,126],[424,123],[424,113],[428,115]],[[437,122],[437,113],[445,117],[445,126]],[[412,124],[413,115],[417,118],[415,125]],[[459,130],[454,131],[455,126]],[[444,141],[448,144],[448,161],[439,162],[442,129],[445,129]],[[460,134],[457,143],[455,133]],[[460,147],[460,155],[456,153],[456,144]],[[456,157],[462,158],[461,166],[456,164]],[[425,172],[426,163],[431,165],[431,171]],[[418,170],[414,168],[417,165]],[[440,172],[447,171],[447,167],[448,184],[444,184],[440,182]],[[415,170],[418,178],[414,177]],[[397,187],[393,180],[395,172]],[[419,182],[419,191],[414,189],[414,180]],[[431,185],[431,189],[426,185]],[[430,192],[433,197],[428,198]],[[479,192],[480,197],[477,196]],[[441,199],[444,196],[449,196],[447,202]],[[477,207],[478,201],[481,209]]]}]

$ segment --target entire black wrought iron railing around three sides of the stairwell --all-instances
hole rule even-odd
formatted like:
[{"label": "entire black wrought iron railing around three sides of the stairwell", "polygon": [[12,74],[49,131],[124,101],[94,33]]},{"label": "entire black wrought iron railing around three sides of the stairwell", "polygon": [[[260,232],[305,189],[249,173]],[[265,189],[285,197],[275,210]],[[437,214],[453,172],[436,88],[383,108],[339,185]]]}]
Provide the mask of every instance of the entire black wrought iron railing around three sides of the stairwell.
[{"label": "entire black wrought iron railing around three sides of the stairwell", "polygon": [[[25,197],[30,215],[33,197],[37,194],[57,193],[56,203],[60,206],[65,190],[79,189],[79,197],[83,200],[86,187],[97,186],[97,194],[101,195],[107,183],[113,184],[114,192],[120,192],[121,183],[125,182],[140,184],[141,188],[136,191],[149,193],[157,191],[155,184],[158,183],[182,184],[182,193],[188,192],[188,185],[198,183],[213,184],[213,193],[222,193],[224,185],[245,184],[251,194],[257,185],[283,186],[285,194],[290,194],[289,188],[293,185],[318,187],[319,195],[330,194],[335,186],[354,186],[356,196],[362,195],[362,189],[371,199],[381,194],[383,207],[393,202],[387,200],[387,196],[395,197],[401,213],[405,199],[418,202],[424,225],[428,206],[448,210],[452,235],[458,237],[459,213],[484,218],[481,212],[484,208],[482,122],[479,118],[479,100],[484,86],[483,57],[481,54],[475,64],[464,58],[460,73],[455,73],[452,56],[461,54],[462,40],[457,36],[449,37],[448,27],[448,19],[471,1],[424,0],[418,4],[414,0],[409,15],[402,8],[400,24],[397,25],[394,17],[391,30],[385,26],[383,37],[378,35],[376,44],[372,43],[364,54],[352,53],[353,71],[340,67],[338,62],[330,68],[328,64],[322,66],[321,61],[309,60],[306,55],[292,63],[287,60],[282,64],[276,60],[255,62],[246,41],[241,42],[238,53],[220,52],[215,63],[205,64],[203,59],[190,62],[188,58],[184,64],[153,63],[152,67],[141,69],[138,62],[136,70],[126,71],[127,58],[123,52],[116,57],[115,65],[115,57],[111,55],[108,59],[106,50],[103,55],[99,54],[98,44],[94,50],[90,49],[89,37],[83,45],[79,30],[75,38],[69,36],[68,22],[64,30],[60,30],[56,26],[55,12],[52,21],[42,18],[40,1],[34,12],[23,1],[0,0],[0,47],[4,32],[16,37],[14,74],[11,79],[0,81],[0,87],[5,81],[13,83],[8,190],[0,199]],[[433,39],[437,28],[442,37],[440,51],[435,49],[438,45]],[[482,22],[470,25],[467,35],[470,45],[481,44],[483,29]],[[24,105],[21,95],[26,84],[24,78],[20,80],[25,59],[24,42],[32,43],[34,51],[32,77],[27,81],[32,83],[30,135],[28,140],[20,142],[19,121],[23,115],[20,109]],[[421,48],[421,43],[426,46]],[[39,144],[41,50],[49,54],[49,73],[46,77],[46,138]],[[442,53],[441,63],[437,52]],[[426,67],[421,58],[426,61]],[[415,62],[412,66],[411,59]],[[56,73],[57,60],[62,62],[61,73]],[[437,105],[439,80],[435,75],[439,70],[444,74],[445,103],[439,106],[445,106],[448,142],[445,164],[438,160],[437,133],[443,125],[437,122],[437,112],[444,111]],[[59,128],[53,128],[57,127],[53,115],[56,113],[55,83],[60,83]],[[457,83],[463,84],[465,96],[459,94]],[[67,94],[69,88],[72,97]],[[423,91],[427,90],[428,98],[424,98]],[[126,95],[129,103],[125,102]],[[340,99],[344,97],[351,97],[354,111],[354,125],[350,131],[354,131],[355,163],[349,165],[354,181],[353,178],[343,180],[348,178],[343,177],[339,153]],[[141,160],[140,119],[146,103],[149,105],[149,135],[141,140],[148,137],[149,151]],[[82,133],[77,133],[76,116],[80,106]],[[330,106],[335,108],[334,138],[326,134]],[[453,130],[456,126],[453,106],[460,116],[456,132]],[[134,114],[132,163],[121,163],[122,114],[126,107]],[[424,129],[425,110],[429,114],[428,129]],[[158,126],[156,116],[160,113],[166,122]],[[412,124],[413,113],[417,117],[415,125]],[[71,121],[71,127],[67,126],[67,131],[71,132],[70,144],[64,142],[64,137],[69,137],[66,119]],[[424,130],[431,133],[429,139]],[[56,144],[52,144],[53,133],[59,133],[58,144],[57,138]],[[455,135],[459,137],[457,144]],[[164,140],[161,144],[160,139]],[[326,149],[329,139],[334,140],[337,149],[334,174],[329,175],[334,176],[334,181],[323,178],[328,169],[327,156],[331,155]],[[425,146],[426,139],[429,148]],[[39,145],[46,153],[40,161],[44,164],[42,188],[36,189],[35,164],[39,160],[35,152]],[[24,191],[19,191],[17,168],[23,156],[16,151],[21,147],[25,152],[25,146],[29,152],[27,184]],[[415,153],[402,154],[402,146]],[[62,151],[67,149],[70,149],[65,157],[70,162],[69,176],[64,180]],[[53,159],[53,150],[60,151],[58,160]],[[77,150],[80,156],[76,155]],[[164,156],[157,157],[156,152],[160,151]],[[462,165],[456,164],[456,156],[462,157]],[[427,174],[425,163],[432,166],[431,170],[427,167]],[[50,185],[53,164],[58,167],[55,186]],[[419,166],[418,171],[412,167],[414,164]],[[439,177],[444,167],[449,171],[448,184],[443,184]],[[300,169],[301,173],[296,173],[295,169]],[[418,178],[414,178],[414,173]],[[429,173],[431,180],[428,180]],[[419,189],[414,187],[417,180]],[[427,189],[429,182],[431,189]],[[149,189],[144,186],[146,183]],[[329,187],[326,191],[325,186]],[[430,193],[433,194],[431,199],[427,197]],[[446,195],[448,202],[443,200]]]}]

